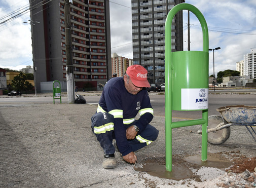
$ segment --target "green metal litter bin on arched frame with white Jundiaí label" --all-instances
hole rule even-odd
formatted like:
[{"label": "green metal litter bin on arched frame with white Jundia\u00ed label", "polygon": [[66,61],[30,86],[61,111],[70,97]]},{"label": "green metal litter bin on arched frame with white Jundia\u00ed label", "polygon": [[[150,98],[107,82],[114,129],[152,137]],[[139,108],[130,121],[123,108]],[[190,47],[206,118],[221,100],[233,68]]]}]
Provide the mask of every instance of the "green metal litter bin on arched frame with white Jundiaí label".
[{"label": "green metal litter bin on arched frame with white Jundia\u00ed label", "polygon": [[[203,51],[171,52],[171,24],[175,14],[189,10],[200,21]],[[165,22],[165,144],[166,170],[172,171],[172,129],[202,124],[201,160],[207,160],[208,125],[208,28],[202,13],[182,3],[171,9]],[[202,110],[202,119],[172,122],[172,110]]]}]

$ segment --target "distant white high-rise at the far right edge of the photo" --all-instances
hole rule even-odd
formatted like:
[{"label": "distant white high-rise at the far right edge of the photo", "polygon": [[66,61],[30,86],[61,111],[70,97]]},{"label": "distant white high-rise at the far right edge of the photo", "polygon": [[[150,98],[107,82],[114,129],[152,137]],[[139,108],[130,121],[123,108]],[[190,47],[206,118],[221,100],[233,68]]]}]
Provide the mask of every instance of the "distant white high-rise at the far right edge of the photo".
[{"label": "distant white high-rise at the far right edge of the photo", "polygon": [[251,79],[256,79],[256,48],[251,49],[250,53],[243,56],[244,72]]}]

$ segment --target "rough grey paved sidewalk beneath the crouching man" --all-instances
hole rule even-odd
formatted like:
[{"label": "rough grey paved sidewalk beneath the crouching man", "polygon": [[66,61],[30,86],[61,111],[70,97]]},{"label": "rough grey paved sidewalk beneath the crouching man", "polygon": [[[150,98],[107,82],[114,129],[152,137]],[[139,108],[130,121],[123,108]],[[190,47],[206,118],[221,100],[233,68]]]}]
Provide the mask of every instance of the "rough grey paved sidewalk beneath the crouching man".
[{"label": "rough grey paved sidewalk beneath the crouching man", "polygon": [[[118,167],[103,169],[103,151],[91,131],[95,111],[96,106],[89,104],[0,106],[0,187],[214,187],[214,178],[224,174],[210,168],[208,176],[201,176],[203,182],[159,178],[135,171],[119,153]],[[151,124],[159,129],[159,137],[136,152],[140,166],[165,162],[165,118],[154,117]],[[173,157],[201,153],[199,128],[173,129]],[[238,132],[247,135],[237,128],[225,144],[208,144],[208,153],[239,150],[255,157],[255,143],[249,136],[233,144]]]}]

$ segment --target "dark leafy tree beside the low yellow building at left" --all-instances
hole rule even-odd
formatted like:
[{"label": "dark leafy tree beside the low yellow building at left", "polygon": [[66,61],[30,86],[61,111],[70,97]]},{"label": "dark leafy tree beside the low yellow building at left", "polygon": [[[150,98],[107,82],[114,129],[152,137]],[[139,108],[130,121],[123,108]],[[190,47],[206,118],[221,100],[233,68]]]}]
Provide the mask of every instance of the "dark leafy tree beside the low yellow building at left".
[{"label": "dark leafy tree beside the low yellow building at left", "polygon": [[12,86],[16,91],[25,91],[27,93],[28,90],[33,88],[32,84],[29,83],[26,77],[26,74],[20,72],[18,76],[14,77],[12,80]]}]

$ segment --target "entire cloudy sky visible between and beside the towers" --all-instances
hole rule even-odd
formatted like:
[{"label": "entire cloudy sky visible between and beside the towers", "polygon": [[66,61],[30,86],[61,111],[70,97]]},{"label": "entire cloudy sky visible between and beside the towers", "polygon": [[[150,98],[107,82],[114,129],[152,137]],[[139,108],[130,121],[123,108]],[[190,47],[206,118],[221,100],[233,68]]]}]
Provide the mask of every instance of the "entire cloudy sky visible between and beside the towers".
[{"label": "entire cloudy sky visible between and beside the towers", "polygon": [[[57,0],[56,0],[57,1]],[[256,48],[256,1],[255,0],[187,0],[203,14],[209,30],[209,48],[214,51],[214,73],[226,69],[236,70],[236,62]],[[8,14],[24,11],[28,0],[0,0],[0,67],[20,70],[32,65],[32,47],[29,11],[9,20]],[[111,0],[111,47],[112,53],[132,59],[131,0]],[[184,51],[188,50],[188,11],[184,11]],[[14,15],[14,14],[13,14]],[[4,23],[2,23],[4,22]],[[190,50],[202,51],[201,26],[190,13]],[[209,75],[213,74],[213,53],[209,51]]]}]

